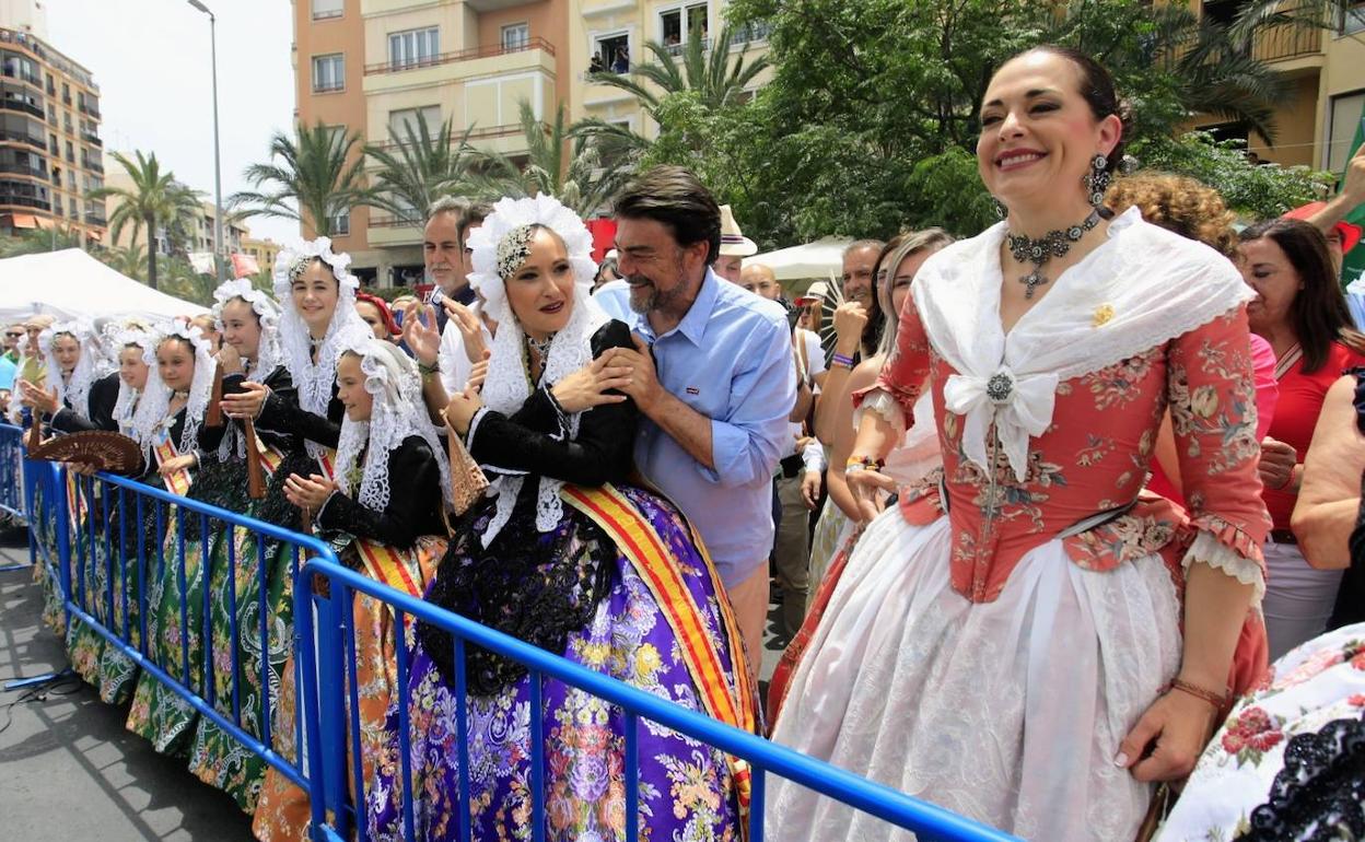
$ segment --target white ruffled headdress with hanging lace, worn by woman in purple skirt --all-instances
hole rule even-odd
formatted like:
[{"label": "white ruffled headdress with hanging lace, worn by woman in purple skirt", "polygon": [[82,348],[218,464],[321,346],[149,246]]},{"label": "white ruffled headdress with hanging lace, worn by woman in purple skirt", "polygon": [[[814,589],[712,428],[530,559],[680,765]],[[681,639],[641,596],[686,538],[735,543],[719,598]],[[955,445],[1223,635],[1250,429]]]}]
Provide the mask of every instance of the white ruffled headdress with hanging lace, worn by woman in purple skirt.
[{"label": "white ruffled headdress with hanging lace, worn by woman in purple skirt", "polygon": [[[474,251],[470,285],[483,296],[485,311],[498,323],[498,332],[493,337],[493,355],[489,358],[489,374],[483,381],[483,405],[505,415],[520,409],[536,388],[526,370],[526,333],[506,296],[506,278],[526,262],[534,227],[549,228],[558,235],[573,266],[573,310],[564,329],[550,340],[541,382],[556,383],[591,363],[592,333],[607,322],[606,313],[588,295],[597,263],[592,262],[592,235],[583,220],[554,197],[543,194],[534,199],[500,199],[483,225],[470,233],[470,248]],[[562,419],[561,434],[575,438],[580,416],[581,412],[575,412]],[[475,429],[471,427],[471,435]],[[498,504],[482,536],[485,547],[512,517],[523,482],[520,471],[487,467],[498,474],[489,484],[489,494],[497,497]],[[535,527],[541,532],[553,529],[564,514],[560,502],[562,486],[562,480],[541,476],[535,512]]]}]

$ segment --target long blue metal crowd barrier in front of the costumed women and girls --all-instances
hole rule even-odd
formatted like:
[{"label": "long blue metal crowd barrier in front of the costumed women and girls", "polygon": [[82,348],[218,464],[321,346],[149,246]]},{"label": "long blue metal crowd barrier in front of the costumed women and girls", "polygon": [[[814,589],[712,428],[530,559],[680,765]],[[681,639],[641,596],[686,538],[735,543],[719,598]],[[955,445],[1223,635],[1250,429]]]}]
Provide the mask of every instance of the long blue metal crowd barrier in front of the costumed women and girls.
[{"label": "long blue metal crowd barrier in front of the costumed women and girls", "polygon": [[[0,426],[0,453],[3,453],[4,438],[12,435],[11,430]],[[394,611],[394,629],[403,629],[410,618],[423,620],[437,625],[455,639],[456,650],[456,686],[455,696],[460,707],[461,741],[459,749],[460,792],[461,804],[468,805],[468,746],[464,737],[467,727],[465,704],[467,688],[464,676],[464,651],[470,644],[483,647],[502,656],[524,665],[531,676],[532,706],[539,706],[542,695],[538,692],[545,677],[556,678],[566,685],[592,693],[613,706],[618,706],[625,712],[628,723],[625,742],[625,776],[627,776],[627,838],[637,838],[637,774],[636,757],[636,729],[640,721],[650,721],[665,727],[687,734],[695,740],[706,742],[729,755],[745,759],[752,767],[752,797],[749,816],[749,838],[752,842],[763,839],[763,796],[767,775],[778,775],[790,779],[801,786],[820,793],[830,798],[849,804],[850,807],[878,816],[897,827],[913,830],[920,839],[960,841],[960,842],[987,842],[1006,841],[1013,837],[980,826],[975,822],[957,816],[932,804],[912,798],[879,783],[874,783],[845,770],[837,768],[820,760],[800,755],[785,746],[773,744],[753,734],[723,725],[703,714],[682,708],[672,701],[659,699],[640,689],[629,686],[616,678],[584,669],[556,654],[550,654],[535,645],[523,643],[515,637],[482,626],[464,617],[415,599],[407,594],[394,591],[362,573],[354,572],[337,562],[332,549],[306,535],[258,521],[235,512],[228,512],[199,501],[176,497],[162,489],[150,487],[121,476],[100,474],[94,478],[78,478],[75,490],[70,495],[74,501],[74,510],[68,506],[67,471],[49,463],[25,463],[25,501],[29,513],[30,546],[35,547],[38,558],[51,565],[52,573],[57,577],[56,585],[63,595],[63,606],[67,611],[67,624],[79,621],[98,632],[108,645],[116,647],[127,655],[138,667],[154,676],[164,685],[169,686],[177,696],[183,697],[201,716],[212,719],[227,734],[236,738],[247,751],[278,770],[285,778],[303,787],[310,798],[313,817],[313,838],[322,841],[340,841],[347,838],[366,838],[364,816],[358,815],[355,805],[364,804],[364,781],[356,772],[359,757],[355,752],[349,757],[348,768],[347,746],[355,745],[358,740],[358,710],[354,703],[355,666],[355,637],[351,617],[352,596],[366,594],[375,600],[390,606]],[[35,499],[37,498],[37,499]],[[136,513],[135,523],[132,513]],[[205,596],[205,618],[202,628],[192,629],[202,635],[199,651],[203,652],[202,691],[194,686],[194,676],[188,674],[188,659],[183,663],[186,670],[175,676],[157,663],[157,659],[147,645],[146,617],[147,577],[153,564],[172,564],[176,568],[176,587],[182,595],[182,617],[186,609],[186,555],[184,529],[179,531],[179,539],[168,553],[164,542],[157,534],[157,545],[147,551],[143,540],[145,516],[153,514],[153,520],[160,529],[171,523],[183,524],[187,517],[198,523],[199,539],[203,542],[205,568],[207,568],[207,536],[210,527],[250,529],[257,535],[257,546],[262,546],[261,538],[281,542],[293,547],[293,644],[295,644],[295,673],[298,686],[296,716],[293,722],[298,740],[295,742],[299,756],[292,761],[277,753],[270,729],[274,725],[270,718],[269,693],[262,696],[261,722],[265,723],[263,733],[257,737],[240,727],[242,712],[238,703],[238,639],[240,629],[233,622],[233,703],[232,714],[220,712],[214,706],[213,682],[213,648],[212,630],[207,617],[207,595]],[[72,528],[75,524],[76,528]],[[35,536],[42,531],[51,531],[53,546]],[[130,542],[127,538],[136,538],[135,554],[130,555]],[[306,558],[300,558],[304,555]],[[96,588],[86,580],[90,564],[102,564],[105,587]],[[228,564],[232,565],[229,553]],[[266,566],[258,566],[258,576],[268,575]],[[231,576],[231,573],[229,573]],[[235,577],[235,576],[233,576]],[[205,580],[209,573],[205,569]],[[325,587],[314,587],[326,583]],[[117,590],[116,590],[117,588]],[[261,592],[265,592],[262,583]],[[121,628],[116,618],[116,595],[123,595],[123,605],[128,606],[131,599],[136,599],[138,618],[141,628],[131,625],[128,611],[123,613]],[[102,607],[104,618],[97,615],[97,606]],[[262,639],[266,637],[265,613],[261,614]],[[112,625],[112,628],[111,628]],[[141,632],[141,635],[136,635]],[[134,643],[136,637],[138,643]],[[182,645],[188,647],[187,636],[182,636]],[[400,707],[405,711],[407,703],[407,671],[408,652],[403,641],[396,647],[399,670],[399,699]],[[347,704],[351,699],[351,704]],[[532,716],[532,822],[534,838],[545,838],[545,745],[538,725],[541,716]],[[400,727],[401,761],[404,775],[401,781],[407,783],[408,771],[408,731],[405,719]],[[354,775],[359,793],[348,792],[348,772]],[[404,824],[411,828],[412,802],[411,792],[404,793]],[[470,839],[468,809],[461,811],[460,839]]]}]

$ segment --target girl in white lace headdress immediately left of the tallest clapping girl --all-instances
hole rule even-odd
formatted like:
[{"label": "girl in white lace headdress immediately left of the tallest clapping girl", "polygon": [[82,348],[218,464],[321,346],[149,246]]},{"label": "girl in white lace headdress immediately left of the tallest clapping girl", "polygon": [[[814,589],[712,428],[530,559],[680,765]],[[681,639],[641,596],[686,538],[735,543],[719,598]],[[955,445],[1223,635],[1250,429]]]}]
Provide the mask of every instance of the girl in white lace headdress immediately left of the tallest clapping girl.
[{"label": "girl in white lace headdress immediately left of the tallest clapping girl", "polygon": [[[281,364],[280,308],[247,280],[227,281],[214,291],[213,315],[222,337],[225,413],[244,383],[261,383],[281,398],[292,394],[289,371]],[[201,454],[232,465],[236,484],[233,510],[285,528],[298,528],[298,509],[284,494],[277,467],[291,452],[303,452],[302,439],[268,430],[247,435],[248,419],[228,422],[217,452]],[[248,438],[254,444],[248,445]],[[254,446],[254,450],[248,449]],[[248,460],[257,460],[265,479],[261,499],[247,499]],[[210,643],[214,704],[248,734],[265,734],[263,723],[278,704],[280,670],[291,650],[293,629],[293,554],[287,545],[259,538],[250,529],[220,536],[213,554]],[[265,591],[262,594],[262,590]],[[233,629],[236,637],[233,637]],[[236,669],[233,670],[233,654]],[[262,674],[262,669],[265,670]],[[209,718],[201,718],[190,749],[190,770],[205,783],[228,792],[247,812],[255,808],[266,763]]]}]

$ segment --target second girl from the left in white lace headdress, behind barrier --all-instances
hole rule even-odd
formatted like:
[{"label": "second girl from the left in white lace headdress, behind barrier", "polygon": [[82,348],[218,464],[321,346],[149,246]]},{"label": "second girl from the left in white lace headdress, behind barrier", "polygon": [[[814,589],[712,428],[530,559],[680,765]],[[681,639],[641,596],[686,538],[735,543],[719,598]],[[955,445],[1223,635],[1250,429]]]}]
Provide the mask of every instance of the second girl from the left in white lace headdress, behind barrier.
[{"label": "second girl from the left in white lace headdress, behind barrier", "polygon": [[[146,389],[147,385],[147,363],[143,355],[149,348],[152,348],[152,333],[141,329],[119,329],[113,333],[113,347],[117,348],[119,353],[119,371],[113,375],[119,381],[117,392],[113,397],[112,408],[108,411],[108,418],[101,419],[101,426],[94,429],[112,430],[121,433],[132,438],[135,435],[132,429],[132,413],[138,407],[138,397]],[[94,400],[91,398],[91,404]],[[97,412],[91,411],[91,415]],[[74,412],[63,411],[59,416],[63,423],[71,426],[79,426],[82,423],[91,423],[90,419],[85,416],[76,416]],[[115,493],[117,497],[117,493]],[[136,523],[128,514],[120,516],[116,509],[112,509],[111,521],[115,524],[115,535],[120,535],[115,540],[120,540],[123,529],[135,531]],[[124,524],[127,524],[124,527]],[[134,536],[135,538],[135,536]],[[141,629],[136,624],[131,622],[131,614],[126,617],[126,603],[128,596],[136,598],[138,583],[141,581],[139,573],[136,570],[136,545],[131,545],[131,551],[123,554],[123,562],[116,569],[111,569],[104,564],[97,562],[97,557],[91,553],[86,557],[86,587],[96,598],[89,603],[91,614],[96,620],[109,624],[115,632],[123,632],[124,625],[127,625],[128,640],[136,645],[141,639]],[[111,614],[102,613],[105,602],[105,594],[108,588],[108,576],[111,572],[116,576],[117,581],[113,588],[113,611]],[[112,618],[112,624],[111,624]],[[102,680],[101,663],[105,660],[105,640],[93,628],[82,624],[79,620],[71,624],[71,629],[67,632],[67,652],[71,659],[71,667],[78,676],[90,682],[101,697],[106,696],[106,691]],[[112,660],[117,660],[117,656],[109,655]],[[112,693],[112,691],[111,691]],[[105,699],[112,700],[112,695]]]}]

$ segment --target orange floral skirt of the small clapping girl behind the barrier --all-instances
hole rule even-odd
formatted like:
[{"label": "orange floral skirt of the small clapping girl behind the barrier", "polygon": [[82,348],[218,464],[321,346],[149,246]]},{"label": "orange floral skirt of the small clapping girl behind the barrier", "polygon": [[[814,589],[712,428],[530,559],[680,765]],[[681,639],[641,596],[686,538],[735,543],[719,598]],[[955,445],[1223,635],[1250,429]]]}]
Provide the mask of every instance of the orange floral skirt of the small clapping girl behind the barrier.
[{"label": "orange floral skirt of the small clapping girl behind the barrier", "polygon": [[[414,550],[404,553],[410,576],[423,587],[435,576],[437,564],[445,554],[444,538],[419,538]],[[352,603],[355,622],[356,688],[360,704],[360,764],[366,781],[375,776],[375,759],[384,737],[384,716],[397,697],[397,650],[393,611],[366,594],[355,594]],[[408,622],[408,636],[412,624]],[[276,751],[291,763],[298,763],[298,686],[293,655],[285,662],[280,686],[280,703],[274,708],[270,730]],[[349,711],[347,714],[349,722]],[[347,737],[347,774],[351,774],[349,736]],[[354,782],[351,782],[354,786]],[[298,841],[308,838],[311,819],[308,794],[295,786],[274,768],[265,772],[257,801],[251,830],[261,842]]]}]

